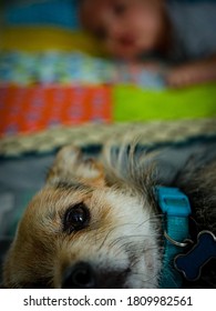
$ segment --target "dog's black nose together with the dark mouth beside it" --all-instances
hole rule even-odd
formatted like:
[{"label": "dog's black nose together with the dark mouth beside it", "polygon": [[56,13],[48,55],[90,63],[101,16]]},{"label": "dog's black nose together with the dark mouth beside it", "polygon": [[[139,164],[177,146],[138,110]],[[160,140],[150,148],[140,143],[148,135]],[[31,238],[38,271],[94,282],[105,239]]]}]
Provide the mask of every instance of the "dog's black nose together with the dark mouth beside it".
[{"label": "dog's black nose together with the dark mouth beside it", "polygon": [[66,268],[63,289],[121,289],[125,287],[130,269],[124,271],[95,270],[88,262],[78,262]]}]

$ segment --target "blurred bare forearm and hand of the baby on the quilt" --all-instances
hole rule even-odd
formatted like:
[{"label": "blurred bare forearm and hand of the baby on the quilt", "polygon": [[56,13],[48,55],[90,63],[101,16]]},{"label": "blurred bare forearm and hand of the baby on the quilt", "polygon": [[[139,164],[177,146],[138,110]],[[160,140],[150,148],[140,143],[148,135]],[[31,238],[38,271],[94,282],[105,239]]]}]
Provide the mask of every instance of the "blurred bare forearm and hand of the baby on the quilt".
[{"label": "blurred bare forearm and hand of the baby on the quilt", "polygon": [[216,81],[216,54],[199,61],[194,61],[171,68],[165,74],[167,84],[182,88]]}]

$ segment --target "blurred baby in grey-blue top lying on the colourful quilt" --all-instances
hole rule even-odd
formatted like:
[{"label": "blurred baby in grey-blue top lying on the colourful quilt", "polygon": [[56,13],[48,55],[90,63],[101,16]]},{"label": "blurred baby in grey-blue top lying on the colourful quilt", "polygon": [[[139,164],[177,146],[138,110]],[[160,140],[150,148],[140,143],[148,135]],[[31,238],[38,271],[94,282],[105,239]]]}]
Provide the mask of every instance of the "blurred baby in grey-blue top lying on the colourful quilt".
[{"label": "blurred baby in grey-blue top lying on the colourful quilt", "polygon": [[80,18],[105,50],[130,62],[156,56],[172,87],[216,81],[216,1],[80,0]]}]

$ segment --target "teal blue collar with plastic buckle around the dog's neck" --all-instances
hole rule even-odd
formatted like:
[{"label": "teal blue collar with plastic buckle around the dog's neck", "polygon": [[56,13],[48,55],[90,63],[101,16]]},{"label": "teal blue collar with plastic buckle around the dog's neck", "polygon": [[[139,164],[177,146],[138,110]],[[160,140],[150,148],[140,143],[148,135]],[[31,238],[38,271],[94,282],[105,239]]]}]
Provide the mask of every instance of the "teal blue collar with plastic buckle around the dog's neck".
[{"label": "teal blue collar with plastic buckle around the dog's neck", "polygon": [[[163,271],[160,281],[162,289],[182,287],[182,277],[174,268],[174,259],[181,253],[181,244],[189,237],[188,215],[191,205],[188,198],[178,188],[155,187],[155,194],[164,218],[164,255]],[[176,243],[172,243],[177,241]]]}]

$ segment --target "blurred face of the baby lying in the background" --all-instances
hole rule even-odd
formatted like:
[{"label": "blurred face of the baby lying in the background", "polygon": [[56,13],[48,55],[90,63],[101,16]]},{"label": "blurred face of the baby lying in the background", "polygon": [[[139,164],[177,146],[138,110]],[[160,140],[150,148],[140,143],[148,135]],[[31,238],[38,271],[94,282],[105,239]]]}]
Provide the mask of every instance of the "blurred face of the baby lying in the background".
[{"label": "blurred face of the baby lying in the background", "polygon": [[162,0],[84,0],[83,26],[113,56],[133,59],[157,48],[162,31]]}]

